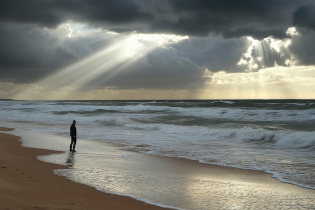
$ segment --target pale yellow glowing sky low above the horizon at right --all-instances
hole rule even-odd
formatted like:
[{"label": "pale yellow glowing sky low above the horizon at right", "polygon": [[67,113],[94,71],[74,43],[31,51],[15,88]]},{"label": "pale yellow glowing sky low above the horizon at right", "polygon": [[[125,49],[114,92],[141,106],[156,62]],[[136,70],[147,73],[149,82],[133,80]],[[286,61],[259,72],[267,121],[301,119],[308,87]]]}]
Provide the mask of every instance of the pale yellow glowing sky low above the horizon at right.
[{"label": "pale yellow glowing sky low above the horizon at right", "polygon": [[253,73],[208,73],[206,77],[207,94],[218,99],[309,99],[315,91],[315,66],[276,66]]}]

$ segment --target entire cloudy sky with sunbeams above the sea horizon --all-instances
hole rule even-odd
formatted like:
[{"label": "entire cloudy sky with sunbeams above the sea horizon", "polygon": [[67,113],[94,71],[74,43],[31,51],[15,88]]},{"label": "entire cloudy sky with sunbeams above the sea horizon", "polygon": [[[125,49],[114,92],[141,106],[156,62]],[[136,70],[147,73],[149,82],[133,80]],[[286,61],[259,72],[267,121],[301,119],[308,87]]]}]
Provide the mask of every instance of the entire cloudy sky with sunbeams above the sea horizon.
[{"label": "entire cloudy sky with sunbeams above the sea horizon", "polygon": [[2,0],[0,98],[315,99],[315,0]]}]

